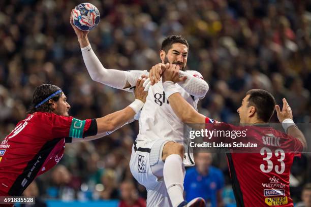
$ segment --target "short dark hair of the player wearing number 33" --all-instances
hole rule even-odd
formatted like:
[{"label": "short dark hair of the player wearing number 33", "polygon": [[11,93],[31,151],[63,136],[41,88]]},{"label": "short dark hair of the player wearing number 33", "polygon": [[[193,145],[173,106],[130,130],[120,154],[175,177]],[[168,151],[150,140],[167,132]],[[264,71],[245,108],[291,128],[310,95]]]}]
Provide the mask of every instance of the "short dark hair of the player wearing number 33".
[{"label": "short dark hair of the player wearing number 33", "polygon": [[275,108],[275,99],[271,93],[262,89],[252,89],[246,92],[250,95],[248,98],[248,107],[256,108],[257,117],[264,122],[269,122]]}]

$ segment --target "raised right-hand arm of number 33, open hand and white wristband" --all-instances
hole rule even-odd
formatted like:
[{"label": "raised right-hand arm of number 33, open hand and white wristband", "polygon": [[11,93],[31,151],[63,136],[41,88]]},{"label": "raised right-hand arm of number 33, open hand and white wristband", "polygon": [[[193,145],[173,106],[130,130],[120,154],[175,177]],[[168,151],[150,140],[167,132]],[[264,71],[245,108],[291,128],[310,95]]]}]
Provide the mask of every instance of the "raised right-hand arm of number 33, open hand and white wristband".
[{"label": "raised right-hand arm of number 33, open hand and white wristband", "polygon": [[[287,120],[289,120],[290,122],[292,121],[292,123],[294,123],[293,122],[292,109],[288,105],[285,98],[283,98],[283,109],[282,109],[282,111],[278,105],[275,106],[275,111],[277,114],[277,118],[278,118],[279,122],[282,123],[282,125],[286,125]],[[305,140],[303,133],[299,130],[299,128],[295,124],[290,124],[290,125],[291,126],[289,126],[287,128],[286,133],[288,135],[291,135],[291,136],[295,137],[296,139],[298,139],[302,144],[303,150],[306,150],[307,144],[306,144],[306,140]]]}]

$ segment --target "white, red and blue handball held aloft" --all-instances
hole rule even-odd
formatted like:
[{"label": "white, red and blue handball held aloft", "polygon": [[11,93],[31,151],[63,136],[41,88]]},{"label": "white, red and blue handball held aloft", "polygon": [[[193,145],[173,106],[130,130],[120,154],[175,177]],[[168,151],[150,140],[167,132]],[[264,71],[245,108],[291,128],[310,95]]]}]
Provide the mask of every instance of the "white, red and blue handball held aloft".
[{"label": "white, red and blue handball held aloft", "polygon": [[76,6],[72,17],[74,25],[83,31],[94,29],[100,21],[98,9],[90,3],[83,3]]}]

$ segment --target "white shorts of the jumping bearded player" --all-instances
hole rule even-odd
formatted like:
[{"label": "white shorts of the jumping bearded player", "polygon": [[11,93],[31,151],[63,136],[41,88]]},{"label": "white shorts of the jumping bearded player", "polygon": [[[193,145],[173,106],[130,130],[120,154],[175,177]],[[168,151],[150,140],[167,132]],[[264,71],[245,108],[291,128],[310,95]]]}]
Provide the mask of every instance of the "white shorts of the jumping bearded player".
[{"label": "white shorts of the jumping bearded player", "polygon": [[163,181],[162,151],[167,142],[174,141],[135,141],[132,148],[130,169],[134,178],[147,190],[147,207],[172,206]]}]

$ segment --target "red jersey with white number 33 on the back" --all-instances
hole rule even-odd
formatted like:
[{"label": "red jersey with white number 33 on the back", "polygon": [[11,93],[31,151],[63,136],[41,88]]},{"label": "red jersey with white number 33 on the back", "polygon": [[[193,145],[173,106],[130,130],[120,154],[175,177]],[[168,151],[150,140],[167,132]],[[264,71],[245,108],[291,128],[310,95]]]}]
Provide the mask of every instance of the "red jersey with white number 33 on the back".
[{"label": "red jersey with white number 33 on the back", "polygon": [[[234,126],[206,118],[210,130],[243,131],[243,143],[257,144],[254,153],[238,153],[229,146],[227,153],[230,176],[237,206],[294,206],[290,197],[289,178],[295,156],[302,143],[269,125]],[[239,139],[222,137],[219,142],[239,143]],[[255,153],[256,152],[256,153]]]}]

